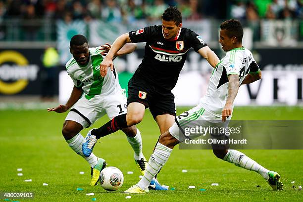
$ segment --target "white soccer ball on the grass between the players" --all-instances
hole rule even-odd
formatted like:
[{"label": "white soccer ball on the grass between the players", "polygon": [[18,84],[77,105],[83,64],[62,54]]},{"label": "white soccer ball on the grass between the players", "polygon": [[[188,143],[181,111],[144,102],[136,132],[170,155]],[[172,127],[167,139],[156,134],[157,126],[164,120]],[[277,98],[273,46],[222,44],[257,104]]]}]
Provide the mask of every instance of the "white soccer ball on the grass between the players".
[{"label": "white soccer ball on the grass between the players", "polygon": [[116,167],[106,167],[100,172],[99,182],[106,191],[116,191],[123,184],[123,173]]}]

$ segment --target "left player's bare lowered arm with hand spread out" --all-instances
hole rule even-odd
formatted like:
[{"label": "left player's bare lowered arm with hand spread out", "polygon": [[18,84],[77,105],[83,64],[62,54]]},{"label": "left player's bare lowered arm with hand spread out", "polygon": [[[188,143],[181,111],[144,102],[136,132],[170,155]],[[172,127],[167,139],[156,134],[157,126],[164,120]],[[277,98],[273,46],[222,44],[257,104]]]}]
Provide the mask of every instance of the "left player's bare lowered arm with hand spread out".
[{"label": "left player's bare lowered arm with hand spread out", "polygon": [[57,113],[62,113],[67,111],[72,105],[74,105],[82,96],[83,90],[82,88],[77,88],[74,86],[73,91],[70,94],[70,97],[66,104],[60,104],[57,107],[54,108],[48,108],[48,111],[55,111]]}]

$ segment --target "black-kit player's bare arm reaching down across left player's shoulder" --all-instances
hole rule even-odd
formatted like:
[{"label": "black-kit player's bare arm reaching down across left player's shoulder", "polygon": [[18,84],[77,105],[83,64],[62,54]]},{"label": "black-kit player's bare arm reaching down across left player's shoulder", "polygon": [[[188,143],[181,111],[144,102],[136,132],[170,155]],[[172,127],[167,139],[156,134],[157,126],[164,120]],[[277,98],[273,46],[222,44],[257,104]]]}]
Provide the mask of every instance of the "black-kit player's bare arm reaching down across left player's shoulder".
[{"label": "black-kit player's bare arm reaching down across left player's shoulder", "polygon": [[113,71],[113,62],[112,59],[116,55],[116,53],[124,46],[126,43],[131,43],[131,40],[129,38],[128,33],[122,34],[119,36],[114,43],[112,44],[110,50],[108,51],[106,57],[101,62],[100,65],[100,75],[102,77],[105,77],[107,74],[107,68],[110,67],[110,69]]}]

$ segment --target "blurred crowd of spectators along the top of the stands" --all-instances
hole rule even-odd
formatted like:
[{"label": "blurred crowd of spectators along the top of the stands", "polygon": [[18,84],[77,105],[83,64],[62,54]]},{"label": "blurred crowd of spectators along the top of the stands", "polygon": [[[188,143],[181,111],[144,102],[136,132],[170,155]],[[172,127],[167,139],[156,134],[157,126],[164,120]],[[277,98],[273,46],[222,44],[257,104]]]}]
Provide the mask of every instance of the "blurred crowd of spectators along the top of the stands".
[{"label": "blurred crowd of spectators along the top of the stands", "polygon": [[101,19],[132,23],[160,19],[169,5],[177,6],[187,20],[303,17],[303,0],[0,0],[0,19]]}]

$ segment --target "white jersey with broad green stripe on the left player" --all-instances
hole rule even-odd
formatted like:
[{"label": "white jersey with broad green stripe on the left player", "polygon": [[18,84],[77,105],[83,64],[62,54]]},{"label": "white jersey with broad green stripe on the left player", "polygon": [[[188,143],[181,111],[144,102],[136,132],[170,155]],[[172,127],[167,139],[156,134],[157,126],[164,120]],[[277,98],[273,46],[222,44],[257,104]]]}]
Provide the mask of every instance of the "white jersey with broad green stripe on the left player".
[{"label": "white jersey with broad green stripe on the left player", "polygon": [[82,87],[85,98],[88,100],[97,95],[107,96],[121,92],[116,71],[110,68],[104,78],[100,75],[100,64],[103,56],[100,54],[100,47],[89,48],[89,63],[86,66],[79,65],[74,58],[71,58],[65,65],[68,75],[72,78],[74,85]]}]

